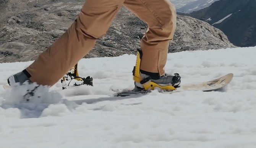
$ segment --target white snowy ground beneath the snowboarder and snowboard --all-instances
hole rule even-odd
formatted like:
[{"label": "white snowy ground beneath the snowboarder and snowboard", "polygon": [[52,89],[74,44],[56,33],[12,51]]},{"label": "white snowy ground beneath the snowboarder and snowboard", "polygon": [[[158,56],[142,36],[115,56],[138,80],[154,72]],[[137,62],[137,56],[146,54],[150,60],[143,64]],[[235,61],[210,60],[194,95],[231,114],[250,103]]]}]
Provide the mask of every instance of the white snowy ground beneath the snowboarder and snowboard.
[{"label": "white snowy ground beneath the snowboarder and snowboard", "polygon": [[[58,83],[31,103],[17,97],[24,90],[0,87],[0,148],[255,148],[255,55],[256,47],[169,54],[166,72],[182,84],[232,72],[224,92],[113,97],[133,87],[134,55],[83,59],[79,74],[94,87]],[[30,63],[0,64],[0,84]]]}]

